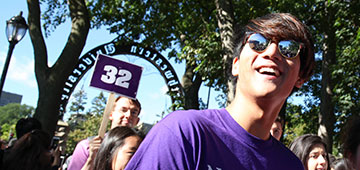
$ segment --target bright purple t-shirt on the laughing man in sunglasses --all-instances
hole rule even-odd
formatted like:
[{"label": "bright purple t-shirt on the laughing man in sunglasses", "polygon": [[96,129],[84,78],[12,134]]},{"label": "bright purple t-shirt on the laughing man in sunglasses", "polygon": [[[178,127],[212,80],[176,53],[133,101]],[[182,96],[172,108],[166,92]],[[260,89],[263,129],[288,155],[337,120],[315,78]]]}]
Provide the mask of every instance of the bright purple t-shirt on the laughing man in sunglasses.
[{"label": "bright purple t-shirt on the laughing man in sunglasses", "polygon": [[304,167],[275,138],[264,141],[251,135],[225,109],[219,109],[171,113],[146,135],[125,169],[304,170]]}]

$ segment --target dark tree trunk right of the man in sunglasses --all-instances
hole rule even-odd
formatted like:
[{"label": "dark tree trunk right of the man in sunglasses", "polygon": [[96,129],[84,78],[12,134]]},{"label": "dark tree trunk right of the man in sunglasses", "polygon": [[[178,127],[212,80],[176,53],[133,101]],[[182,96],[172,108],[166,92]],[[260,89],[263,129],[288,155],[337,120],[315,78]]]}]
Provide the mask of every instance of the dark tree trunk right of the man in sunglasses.
[{"label": "dark tree trunk right of the man in sunglasses", "polygon": [[[325,5],[326,6],[326,5]],[[319,113],[319,129],[318,135],[323,138],[327,145],[328,153],[332,153],[335,113],[333,97],[333,83],[332,83],[332,69],[336,61],[336,39],[335,30],[329,25],[333,25],[334,13],[330,12],[328,8],[327,22],[324,22],[322,28],[324,29],[324,45],[323,45],[323,60],[322,60],[322,79],[321,79],[321,97],[320,97],[320,113]],[[325,26],[326,25],[326,26]]]}]

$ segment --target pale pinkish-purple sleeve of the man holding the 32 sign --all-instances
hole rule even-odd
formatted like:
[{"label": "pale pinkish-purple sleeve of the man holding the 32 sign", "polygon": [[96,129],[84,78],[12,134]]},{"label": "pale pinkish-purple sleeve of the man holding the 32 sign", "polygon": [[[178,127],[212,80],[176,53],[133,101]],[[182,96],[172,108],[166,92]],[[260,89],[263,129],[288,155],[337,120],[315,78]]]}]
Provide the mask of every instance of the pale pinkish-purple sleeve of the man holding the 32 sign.
[{"label": "pale pinkish-purple sleeve of the man holding the 32 sign", "polygon": [[68,170],[81,170],[89,157],[89,140],[80,141],[72,154]]}]

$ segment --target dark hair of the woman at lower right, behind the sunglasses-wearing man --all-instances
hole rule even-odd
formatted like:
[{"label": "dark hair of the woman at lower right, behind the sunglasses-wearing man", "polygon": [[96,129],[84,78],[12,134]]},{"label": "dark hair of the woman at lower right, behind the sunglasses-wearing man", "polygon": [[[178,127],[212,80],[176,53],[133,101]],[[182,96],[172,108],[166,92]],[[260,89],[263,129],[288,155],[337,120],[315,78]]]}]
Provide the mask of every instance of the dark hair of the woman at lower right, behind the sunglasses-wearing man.
[{"label": "dark hair of the woman at lower right, behind the sunglasses-wearing man", "polygon": [[[313,147],[317,144],[323,145],[325,152],[327,153],[325,142],[320,138],[320,136],[314,134],[305,134],[297,137],[290,144],[289,149],[301,160],[305,169],[307,170],[308,169],[307,162],[309,160],[309,154],[313,149]],[[329,165],[327,170],[330,170],[329,154],[326,154],[326,161]]]}]

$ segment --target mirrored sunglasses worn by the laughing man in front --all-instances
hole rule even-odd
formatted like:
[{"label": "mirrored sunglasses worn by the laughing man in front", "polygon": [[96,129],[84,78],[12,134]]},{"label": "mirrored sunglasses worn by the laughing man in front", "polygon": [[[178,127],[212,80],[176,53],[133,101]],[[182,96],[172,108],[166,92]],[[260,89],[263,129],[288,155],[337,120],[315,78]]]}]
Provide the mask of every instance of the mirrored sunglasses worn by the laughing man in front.
[{"label": "mirrored sunglasses worn by the laughing man in front", "polygon": [[[262,53],[271,44],[271,40],[266,39],[259,33],[248,33],[246,42],[249,43],[251,49]],[[288,59],[294,59],[299,55],[301,50],[301,43],[293,40],[282,40],[278,42],[280,54]]]}]

